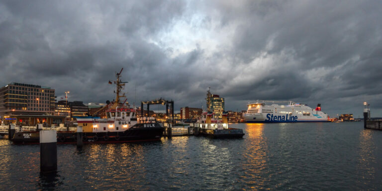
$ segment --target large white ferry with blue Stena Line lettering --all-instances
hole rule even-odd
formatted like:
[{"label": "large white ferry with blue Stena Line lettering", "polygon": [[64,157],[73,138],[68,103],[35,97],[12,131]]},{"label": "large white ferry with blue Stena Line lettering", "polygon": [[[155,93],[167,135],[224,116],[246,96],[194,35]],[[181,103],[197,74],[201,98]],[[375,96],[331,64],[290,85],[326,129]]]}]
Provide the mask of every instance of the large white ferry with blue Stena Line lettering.
[{"label": "large white ferry with blue Stena Line lettering", "polygon": [[[271,105],[265,102],[272,102]],[[327,122],[328,115],[321,111],[321,104],[311,108],[306,104],[287,101],[287,105],[276,102],[286,101],[257,101],[248,105],[247,113],[243,114],[247,123],[293,123],[293,122]]]}]

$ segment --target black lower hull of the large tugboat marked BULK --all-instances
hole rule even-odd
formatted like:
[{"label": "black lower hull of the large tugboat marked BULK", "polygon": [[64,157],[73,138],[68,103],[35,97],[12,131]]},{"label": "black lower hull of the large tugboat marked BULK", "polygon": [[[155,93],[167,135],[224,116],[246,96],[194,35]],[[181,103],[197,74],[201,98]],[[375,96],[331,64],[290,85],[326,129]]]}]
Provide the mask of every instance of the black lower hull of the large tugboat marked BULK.
[{"label": "black lower hull of the large tugboat marked BULK", "polygon": [[[159,141],[163,135],[164,128],[157,124],[153,127],[143,127],[137,124],[125,131],[120,132],[84,132],[83,143],[123,143],[123,142],[143,142]],[[38,131],[17,132],[11,141],[14,144],[39,144],[40,134]],[[57,144],[76,144],[76,132],[58,131]]]}]

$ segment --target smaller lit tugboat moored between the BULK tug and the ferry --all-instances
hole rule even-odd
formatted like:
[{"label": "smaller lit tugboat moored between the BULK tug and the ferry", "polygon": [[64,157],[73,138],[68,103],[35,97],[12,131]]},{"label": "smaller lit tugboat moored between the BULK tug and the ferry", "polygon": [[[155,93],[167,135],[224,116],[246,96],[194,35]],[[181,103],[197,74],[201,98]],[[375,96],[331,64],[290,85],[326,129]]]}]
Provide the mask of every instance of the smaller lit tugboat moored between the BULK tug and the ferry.
[{"label": "smaller lit tugboat moored between the BULK tug and the ferry", "polygon": [[211,93],[207,91],[207,111],[197,119],[198,133],[210,138],[242,138],[243,129],[230,128],[228,126],[227,112],[222,113],[221,119],[210,111],[208,101]]}]

